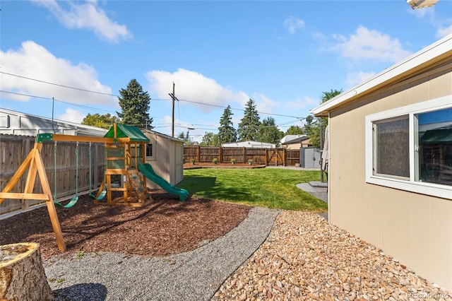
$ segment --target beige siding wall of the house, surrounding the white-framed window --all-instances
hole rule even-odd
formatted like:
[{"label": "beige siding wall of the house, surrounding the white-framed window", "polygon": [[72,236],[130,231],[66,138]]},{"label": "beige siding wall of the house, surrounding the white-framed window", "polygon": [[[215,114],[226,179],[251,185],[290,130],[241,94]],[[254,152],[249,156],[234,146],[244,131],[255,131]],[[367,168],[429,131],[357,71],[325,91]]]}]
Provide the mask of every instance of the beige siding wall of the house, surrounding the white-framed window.
[{"label": "beige siding wall of the house, surrounding the white-framed window", "polygon": [[452,290],[452,201],[365,180],[367,114],[452,94],[451,68],[424,74],[330,112],[330,220]]}]

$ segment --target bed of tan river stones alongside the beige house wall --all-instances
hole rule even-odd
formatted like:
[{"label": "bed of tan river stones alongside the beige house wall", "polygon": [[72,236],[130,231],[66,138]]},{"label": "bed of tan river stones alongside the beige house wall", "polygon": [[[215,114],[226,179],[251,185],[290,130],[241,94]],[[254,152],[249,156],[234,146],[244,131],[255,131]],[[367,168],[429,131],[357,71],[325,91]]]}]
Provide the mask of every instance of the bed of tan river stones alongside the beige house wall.
[{"label": "bed of tan river stones alongside the beige house wall", "polygon": [[283,211],[213,300],[452,300],[452,293],[318,214]]}]

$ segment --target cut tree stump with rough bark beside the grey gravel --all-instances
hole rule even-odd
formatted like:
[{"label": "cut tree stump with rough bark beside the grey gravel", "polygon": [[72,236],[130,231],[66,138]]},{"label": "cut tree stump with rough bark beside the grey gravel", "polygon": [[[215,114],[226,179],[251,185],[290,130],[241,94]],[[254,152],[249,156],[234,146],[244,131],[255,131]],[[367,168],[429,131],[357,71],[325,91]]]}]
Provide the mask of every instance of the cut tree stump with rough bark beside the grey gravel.
[{"label": "cut tree stump with rough bark beside the grey gravel", "polygon": [[0,246],[0,300],[52,300],[42,267],[40,245],[21,242]]}]

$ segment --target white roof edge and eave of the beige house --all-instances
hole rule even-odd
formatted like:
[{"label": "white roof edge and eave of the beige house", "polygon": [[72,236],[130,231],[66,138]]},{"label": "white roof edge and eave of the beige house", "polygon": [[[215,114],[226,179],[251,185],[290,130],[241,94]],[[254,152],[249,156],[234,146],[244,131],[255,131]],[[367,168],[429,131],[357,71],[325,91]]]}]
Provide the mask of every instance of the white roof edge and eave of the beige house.
[{"label": "white roof edge and eave of the beige house", "polygon": [[328,112],[336,107],[340,107],[347,102],[352,102],[358,98],[362,98],[363,95],[371,93],[372,91],[381,88],[382,86],[387,86],[392,83],[400,81],[400,78],[409,76],[411,73],[429,66],[436,61],[440,61],[446,57],[452,55],[452,34],[447,35],[441,40],[434,42],[432,45],[425,47],[412,54],[410,57],[400,61],[397,64],[381,71],[380,73],[373,76],[368,81],[359,83],[355,87],[347,90],[335,98],[331,98],[327,102],[323,102],[318,107],[311,110],[315,116],[328,116]]}]

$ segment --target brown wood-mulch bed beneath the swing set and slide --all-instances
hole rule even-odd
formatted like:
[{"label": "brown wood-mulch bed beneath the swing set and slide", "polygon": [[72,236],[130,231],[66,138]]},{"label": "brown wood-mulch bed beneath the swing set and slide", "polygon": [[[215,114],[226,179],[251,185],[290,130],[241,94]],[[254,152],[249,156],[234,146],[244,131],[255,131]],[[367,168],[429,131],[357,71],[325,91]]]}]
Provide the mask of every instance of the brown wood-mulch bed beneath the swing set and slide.
[{"label": "brown wood-mulch bed beneath the swing set and slide", "polygon": [[[152,191],[148,206],[95,205],[80,196],[72,208],[57,208],[67,252],[121,252],[160,256],[186,252],[225,235],[251,207],[197,199],[181,202],[164,190]],[[62,254],[47,207],[0,220],[0,244],[37,242],[42,259]]]}]

